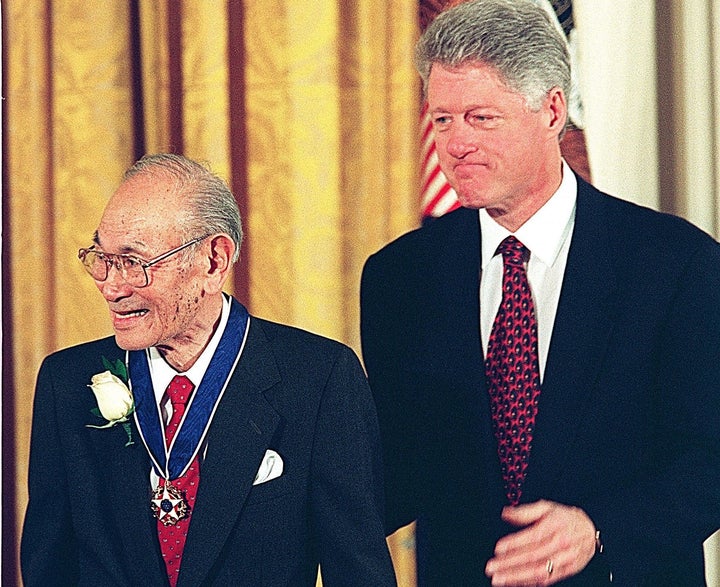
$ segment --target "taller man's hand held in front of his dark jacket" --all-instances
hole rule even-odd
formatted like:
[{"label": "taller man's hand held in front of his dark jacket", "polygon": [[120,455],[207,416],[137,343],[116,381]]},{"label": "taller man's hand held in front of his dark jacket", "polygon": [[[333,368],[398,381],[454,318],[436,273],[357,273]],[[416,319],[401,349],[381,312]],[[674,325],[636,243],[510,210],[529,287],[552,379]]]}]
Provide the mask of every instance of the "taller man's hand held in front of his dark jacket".
[{"label": "taller man's hand held in front of his dark jacket", "polygon": [[541,500],[508,506],[502,517],[522,530],[495,545],[485,567],[493,585],[552,585],[578,574],[595,555],[595,525],[580,508]]}]

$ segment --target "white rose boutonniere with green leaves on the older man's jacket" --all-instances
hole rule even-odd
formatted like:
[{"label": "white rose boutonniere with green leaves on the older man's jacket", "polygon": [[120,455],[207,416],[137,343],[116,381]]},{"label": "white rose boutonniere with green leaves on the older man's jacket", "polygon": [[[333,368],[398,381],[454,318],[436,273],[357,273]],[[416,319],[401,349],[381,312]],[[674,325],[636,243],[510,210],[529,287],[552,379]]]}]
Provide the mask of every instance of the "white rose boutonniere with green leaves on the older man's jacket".
[{"label": "white rose boutonniere with green leaves on the older man's jacket", "polygon": [[103,425],[87,424],[87,427],[111,428],[122,424],[128,435],[125,446],[129,446],[134,442],[128,416],[135,411],[135,402],[132,392],[126,384],[127,369],[119,359],[115,363],[111,363],[103,357],[103,364],[107,370],[93,375],[88,387],[92,389],[98,403],[98,407],[93,408],[91,412],[93,415],[107,420],[107,423]]}]

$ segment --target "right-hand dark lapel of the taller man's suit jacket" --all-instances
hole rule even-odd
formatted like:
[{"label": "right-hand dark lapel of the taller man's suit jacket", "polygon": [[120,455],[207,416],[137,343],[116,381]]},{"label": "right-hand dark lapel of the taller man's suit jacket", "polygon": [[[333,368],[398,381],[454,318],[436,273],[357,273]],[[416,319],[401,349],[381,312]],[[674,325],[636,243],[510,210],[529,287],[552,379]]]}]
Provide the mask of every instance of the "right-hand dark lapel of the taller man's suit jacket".
[{"label": "right-hand dark lapel of the taller man's suit jacket", "polygon": [[[582,414],[592,408],[598,370],[614,327],[616,278],[599,194],[578,180],[575,229],[548,353],[527,494],[555,484]],[[542,480],[542,482],[540,481]],[[542,487],[539,485],[542,483]]]}]

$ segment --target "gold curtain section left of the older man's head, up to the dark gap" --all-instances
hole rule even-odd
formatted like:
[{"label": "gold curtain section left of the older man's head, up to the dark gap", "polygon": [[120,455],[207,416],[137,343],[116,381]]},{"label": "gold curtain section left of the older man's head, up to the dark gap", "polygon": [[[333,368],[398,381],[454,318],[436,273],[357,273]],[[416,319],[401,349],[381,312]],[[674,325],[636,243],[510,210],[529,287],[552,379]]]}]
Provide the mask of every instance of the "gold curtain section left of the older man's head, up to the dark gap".
[{"label": "gold curtain section left of the older man's head, up to the dark gap", "polygon": [[[5,463],[4,472],[15,479],[17,540],[40,361],[61,346],[110,332],[107,312],[84,303],[98,294],[75,255],[89,244],[104,198],[131,158],[125,121],[132,112],[125,4],[28,0],[4,3],[3,11],[9,217],[3,320],[12,320],[14,333],[12,356],[4,357],[13,387],[3,386],[3,399],[15,406],[14,422],[4,422],[14,427],[15,462]],[[10,563],[4,577],[17,572]]]}]

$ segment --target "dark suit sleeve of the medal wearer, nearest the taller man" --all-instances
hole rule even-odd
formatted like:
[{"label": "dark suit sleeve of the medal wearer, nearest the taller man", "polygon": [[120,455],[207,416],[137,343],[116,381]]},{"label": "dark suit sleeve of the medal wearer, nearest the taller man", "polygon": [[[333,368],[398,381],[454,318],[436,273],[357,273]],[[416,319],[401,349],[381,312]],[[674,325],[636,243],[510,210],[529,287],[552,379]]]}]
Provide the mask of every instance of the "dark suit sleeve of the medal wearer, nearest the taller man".
[{"label": "dark suit sleeve of the medal wearer, nearest the taller man", "polygon": [[323,585],[393,586],[377,416],[362,367],[346,347],[319,409],[311,507]]}]

